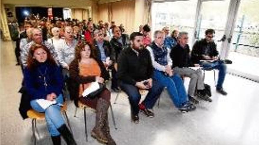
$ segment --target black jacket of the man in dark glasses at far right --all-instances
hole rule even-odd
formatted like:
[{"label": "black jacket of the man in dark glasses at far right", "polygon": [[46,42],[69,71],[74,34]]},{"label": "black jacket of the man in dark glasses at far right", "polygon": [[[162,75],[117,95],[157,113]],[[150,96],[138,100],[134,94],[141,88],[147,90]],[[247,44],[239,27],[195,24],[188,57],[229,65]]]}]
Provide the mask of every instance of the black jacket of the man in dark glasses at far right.
[{"label": "black jacket of the man in dark glasses at far right", "polygon": [[207,42],[206,39],[196,41],[192,47],[191,59],[193,63],[199,63],[203,59],[202,55],[210,57],[218,56],[217,45],[215,42]]}]

